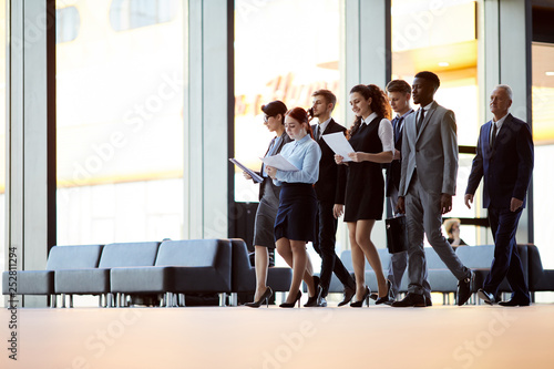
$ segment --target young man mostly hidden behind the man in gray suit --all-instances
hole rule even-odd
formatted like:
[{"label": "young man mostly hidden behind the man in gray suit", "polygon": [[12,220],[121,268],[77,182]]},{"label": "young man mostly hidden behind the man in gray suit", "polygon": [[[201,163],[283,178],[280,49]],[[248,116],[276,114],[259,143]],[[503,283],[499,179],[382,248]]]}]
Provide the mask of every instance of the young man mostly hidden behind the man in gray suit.
[{"label": "young man mostly hidden behind the man in gray suit", "polygon": [[[386,196],[389,197],[391,208],[396,213],[401,175],[402,132],[406,117],[413,113],[413,109],[410,106],[412,88],[404,80],[393,80],[387,84],[386,90],[389,96],[390,106],[397,114],[391,121],[392,131],[394,133],[394,157],[392,162],[386,166]],[[388,279],[392,284],[392,296],[398,295],[400,284],[402,281],[402,276],[404,275],[407,266],[407,252],[391,254]]]}]

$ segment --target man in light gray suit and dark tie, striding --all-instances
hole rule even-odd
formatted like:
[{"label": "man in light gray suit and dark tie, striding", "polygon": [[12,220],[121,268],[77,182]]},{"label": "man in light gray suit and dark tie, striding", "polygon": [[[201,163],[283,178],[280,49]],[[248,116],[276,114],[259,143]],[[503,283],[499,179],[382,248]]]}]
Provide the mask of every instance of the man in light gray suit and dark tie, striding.
[{"label": "man in light gray suit and dark tie, striding", "polygon": [[424,307],[430,286],[425,283],[427,263],[423,233],[439,257],[458,278],[458,305],[471,296],[473,274],[460,262],[442,235],[442,214],[452,209],[458,174],[458,139],[454,113],[434,101],[440,80],[432,72],[416,74],[413,102],[418,112],[407,116],[402,135],[402,168],[398,211],[408,225],[408,277],[404,299],[393,307]]}]

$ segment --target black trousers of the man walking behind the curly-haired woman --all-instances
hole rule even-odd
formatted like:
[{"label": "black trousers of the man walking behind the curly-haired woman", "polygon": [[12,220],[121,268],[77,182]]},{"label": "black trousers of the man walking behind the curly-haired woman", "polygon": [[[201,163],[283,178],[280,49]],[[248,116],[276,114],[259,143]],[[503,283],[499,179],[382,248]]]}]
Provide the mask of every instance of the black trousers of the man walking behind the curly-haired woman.
[{"label": "black trousers of the man walking behind the curly-haired woman", "polygon": [[338,221],[332,215],[334,203],[317,202],[318,214],[316,217],[316,240],[314,249],[321,257],[321,274],[319,285],[322,288],[322,297],[329,291],[329,284],[335,271],[337,278],[345,287],[356,288],[356,281],[345,268],[342,262],[335,253],[335,242]]}]

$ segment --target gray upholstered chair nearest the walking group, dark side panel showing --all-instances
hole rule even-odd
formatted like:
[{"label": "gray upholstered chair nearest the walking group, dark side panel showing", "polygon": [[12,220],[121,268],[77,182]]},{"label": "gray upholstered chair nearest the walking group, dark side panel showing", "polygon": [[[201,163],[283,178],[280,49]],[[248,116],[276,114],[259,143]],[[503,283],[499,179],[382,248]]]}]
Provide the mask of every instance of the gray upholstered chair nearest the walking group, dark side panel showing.
[{"label": "gray upholstered chair nearest the walking group, dark side panel showing", "polygon": [[164,294],[167,307],[184,305],[184,294],[230,293],[230,242],[228,239],[164,240],[150,267],[111,269],[112,293]]}]

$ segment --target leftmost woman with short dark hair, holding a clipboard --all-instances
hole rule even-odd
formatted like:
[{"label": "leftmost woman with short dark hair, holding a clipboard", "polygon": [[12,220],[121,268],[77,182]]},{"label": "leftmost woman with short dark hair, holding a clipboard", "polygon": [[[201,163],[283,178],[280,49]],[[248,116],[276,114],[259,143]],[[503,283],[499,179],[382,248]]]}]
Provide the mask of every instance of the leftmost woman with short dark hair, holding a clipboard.
[{"label": "leftmost woman with short dark hair, holding a clipboard", "polygon": [[[286,143],[291,140],[285,133],[285,113],[287,106],[281,101],[271,101],[263,105],[264,125],[269,132],[275,132],[276,136],[269,143],[265,156],[278,154]],[[280,187],[276,186],[273,180],[267,175],[267,172],[261,164],[261,171],[258,173],[264,177],[264,182],[259,184],[259,205],[256,211],[256,219],[254,222],[254,258],[256,270],[256,293],[253,303],[246,303],[248,307],[257,308],[264,301],[267,303],[273,295],[267,283],[267,268],[269,265],[269,249],[275,250],[274,223],[279,207]],[[252,180],[250,175],[244,172],[247,180]]]}]

